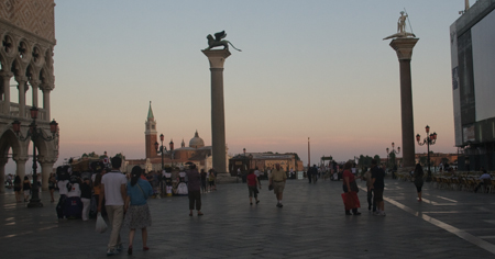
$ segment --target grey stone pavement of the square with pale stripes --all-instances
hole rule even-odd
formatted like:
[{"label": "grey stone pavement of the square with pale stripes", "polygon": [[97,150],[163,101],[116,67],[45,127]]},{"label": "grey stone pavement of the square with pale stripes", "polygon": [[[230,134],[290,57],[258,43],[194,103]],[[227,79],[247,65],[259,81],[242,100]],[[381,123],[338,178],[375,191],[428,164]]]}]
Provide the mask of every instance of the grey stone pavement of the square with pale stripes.
[{"label": "grey stone pavement of the square with pale stripes", "polygon": [[[266,189],[249,204],[243,183],[221,184],[202,195],[205,216],[188,216],[186,196],[150,200],[153,226],[148,251],[140,232],[134,255],[114,258],[494,258],[495,195],[424,187],[416,201],[411,182],[386,179],[387,215],[369,213],[360,191],[361,216],[345,216],[341,182],[287,181],[284,207]],[[364,182],[360,182],[364,187]],[[16,204],[0,194],[0,258],[107,258],[109,230],[95,233],[95,219],[58,222],[55,204]],[[124,246],[128,229],[122,228]]]}]

